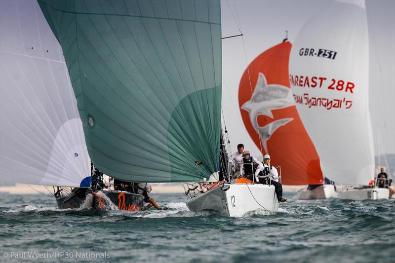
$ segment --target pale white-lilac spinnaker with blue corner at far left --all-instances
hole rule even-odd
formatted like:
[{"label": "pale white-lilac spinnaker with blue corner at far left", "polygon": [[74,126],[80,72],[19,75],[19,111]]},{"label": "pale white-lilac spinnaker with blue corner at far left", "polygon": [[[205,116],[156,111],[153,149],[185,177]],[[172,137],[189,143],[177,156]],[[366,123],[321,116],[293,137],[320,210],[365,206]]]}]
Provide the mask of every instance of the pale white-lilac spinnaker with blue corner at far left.
[{"label": "pale white-lilac spinnaker with blue corner at far left", "polygon": [[36,1],[1,0],[0,10],[1,181],[87,187],[89,157],[58,41]]}]

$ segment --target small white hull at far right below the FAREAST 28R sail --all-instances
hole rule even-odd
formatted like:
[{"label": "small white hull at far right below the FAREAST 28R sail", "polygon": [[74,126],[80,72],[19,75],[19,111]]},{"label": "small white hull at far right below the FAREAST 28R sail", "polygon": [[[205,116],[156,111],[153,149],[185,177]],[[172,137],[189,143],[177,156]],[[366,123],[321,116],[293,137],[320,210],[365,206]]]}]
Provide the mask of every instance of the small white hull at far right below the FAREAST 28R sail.
[{"label": "small white hull at far right below the FAREAST 28R sail", "polygon": [[377,200],[388,199],[390,191],[387,188],[349,188],[339,193],[341,199],[350,200]]}]

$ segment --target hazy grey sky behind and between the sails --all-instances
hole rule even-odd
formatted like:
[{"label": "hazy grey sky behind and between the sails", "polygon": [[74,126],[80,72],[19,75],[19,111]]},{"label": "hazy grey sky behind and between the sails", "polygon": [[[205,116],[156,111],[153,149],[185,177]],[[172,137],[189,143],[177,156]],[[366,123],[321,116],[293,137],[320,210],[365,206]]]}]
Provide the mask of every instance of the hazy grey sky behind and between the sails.
[{"label": "hazy grey sky behind and between the sails", "polygon": [[[325,4],[324,0],[221,1],[223,37],[239,34],[239,24],[245,45],[244,55],[242,38],[222,40],[222,107],[232,150],[243,142],[255,156],[260,155],[238,110],[238,85],[246,63],[280,43],[285,30],[292,43],[302,25],[322,11]],[[368,0],[366,11],[370,49],[369,107],[375,155],[395,153],[395,1]]]}]

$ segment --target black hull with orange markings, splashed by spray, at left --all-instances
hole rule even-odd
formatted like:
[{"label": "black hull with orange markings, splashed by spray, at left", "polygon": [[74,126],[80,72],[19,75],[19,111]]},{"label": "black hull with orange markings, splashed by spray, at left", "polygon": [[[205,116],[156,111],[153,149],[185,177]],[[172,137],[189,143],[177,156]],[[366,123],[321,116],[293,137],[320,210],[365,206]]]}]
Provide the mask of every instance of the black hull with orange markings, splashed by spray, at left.
[{"label": "black hull with orange markings, splashed by spray, at left", "polygon": [[59,209],[75,209],[81,207],[88,195],[92,195],[92,202],[89,202],[87,208],[92,207],[95,210],[103,211],[109,209],[119,209],[126,211],[140,211],[144,207],[144,196],[141,194],[117,191],[104,190],[97,192],[86,192],[83,196],[73,196],[67,202],[64,202],[67,196],[56,198],[56,203]]}]

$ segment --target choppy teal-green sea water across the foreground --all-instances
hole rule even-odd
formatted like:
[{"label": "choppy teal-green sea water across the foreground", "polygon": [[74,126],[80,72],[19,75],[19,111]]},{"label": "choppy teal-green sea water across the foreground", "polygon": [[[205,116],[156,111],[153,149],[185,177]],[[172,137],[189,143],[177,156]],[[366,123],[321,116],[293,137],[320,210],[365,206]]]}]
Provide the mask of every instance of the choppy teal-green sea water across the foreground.
[{"label": "choppy teal-green sea water across the foreground", "polygon": [[58,210],[54,198],[40,194],[0,197],[0,262],[61,252],[70,261],[395,262],[394,200],[301,201],[288,194],[276,213],[228,218],[190,212],[183,194],[152,194],[168,210],[102,214]]}]

